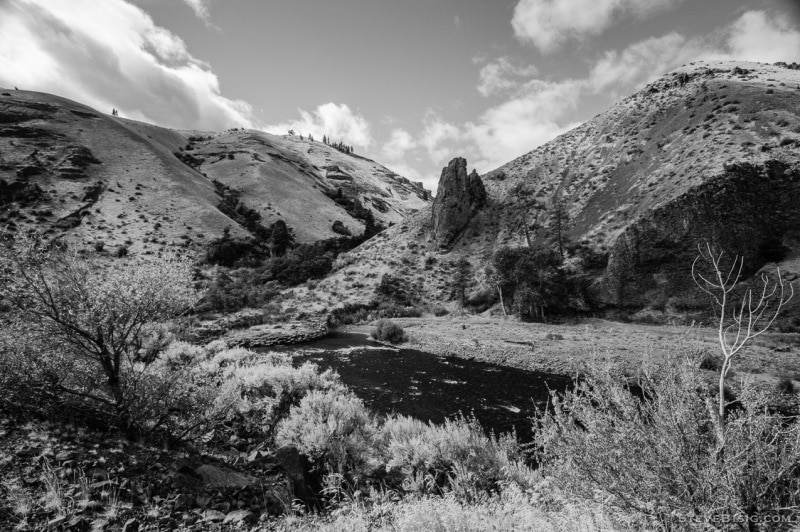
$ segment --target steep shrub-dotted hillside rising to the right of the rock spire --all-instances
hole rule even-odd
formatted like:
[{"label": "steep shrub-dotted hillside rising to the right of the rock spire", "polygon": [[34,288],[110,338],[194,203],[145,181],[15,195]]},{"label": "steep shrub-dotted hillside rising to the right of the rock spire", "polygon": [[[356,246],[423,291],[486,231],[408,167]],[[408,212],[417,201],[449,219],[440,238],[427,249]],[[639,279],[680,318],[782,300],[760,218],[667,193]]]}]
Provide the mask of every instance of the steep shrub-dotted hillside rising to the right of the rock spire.
[{"label": "steep shrub-dotted hillside rising to the right of the rock spire", "polygon": [[[557,203],[565,263],[587,283],[579,308],[686,304],[689,267],[706,241],[743,255],[748,274],[777,263],[796,278],[799,109],[798,70],[686,65],[482,176],[484,206],[446,247],[426,209],[341,257],[326,283],[363,303],[390,274],[419,301],[447,302],[466,259],[475,295],[490,289],[483,266],[494,251],[525,246],[526,233],[557,247]],[[326,290],[321,283],[316,297]]]}]

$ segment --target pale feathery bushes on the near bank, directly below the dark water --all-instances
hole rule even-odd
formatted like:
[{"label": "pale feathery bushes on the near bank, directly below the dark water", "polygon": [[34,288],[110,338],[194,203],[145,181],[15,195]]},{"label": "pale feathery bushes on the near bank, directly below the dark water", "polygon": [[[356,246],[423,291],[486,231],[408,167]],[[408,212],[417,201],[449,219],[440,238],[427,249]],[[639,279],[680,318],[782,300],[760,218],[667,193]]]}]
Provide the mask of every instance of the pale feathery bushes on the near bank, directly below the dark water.
[{"label": "pale feathery bushes on the near bank, directly below the dark water", "polygon": [[442,425],[405,416],[381,422],[340,390],[309,392],[278,426],[276,443],[296,447],[318,471],[351,488],[452,491],[477,500],[503,485],[535,482],[513,435],[487,436],[464,418]]}]

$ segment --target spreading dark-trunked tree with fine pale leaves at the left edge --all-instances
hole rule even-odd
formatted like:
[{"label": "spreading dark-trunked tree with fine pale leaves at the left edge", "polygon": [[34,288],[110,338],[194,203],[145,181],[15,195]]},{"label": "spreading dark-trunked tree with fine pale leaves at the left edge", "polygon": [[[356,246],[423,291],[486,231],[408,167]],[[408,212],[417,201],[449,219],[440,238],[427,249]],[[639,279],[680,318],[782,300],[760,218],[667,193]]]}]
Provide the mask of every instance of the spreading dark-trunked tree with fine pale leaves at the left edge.
[{"label": "spreading dark-trunked tree with fine pale leaves at the left edge", "polygon": [[42,363],[67,362],[69,371],[49,375],[55,389],[112,407],[120,427],[134,430],[137,364],[158,357],[168,343],[164,323],[197,300],[191,266],[176,258],[109,266],[18,236],[0,249],[0,271],[15,326],[47,349]]}]

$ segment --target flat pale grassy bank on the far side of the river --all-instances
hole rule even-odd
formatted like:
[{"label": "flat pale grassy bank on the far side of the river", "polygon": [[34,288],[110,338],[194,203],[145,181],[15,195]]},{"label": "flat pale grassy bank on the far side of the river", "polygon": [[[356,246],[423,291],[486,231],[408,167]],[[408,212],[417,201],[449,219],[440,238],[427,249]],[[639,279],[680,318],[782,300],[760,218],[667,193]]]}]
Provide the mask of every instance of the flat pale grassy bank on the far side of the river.
[{"label": "flat pale grassy bank on the far side of the river", "polygon": [[[588,319],[572,324],[521,323],[483,316],[398,318],[403,347],[528,371],[572,376],[593,360],[608,360],[635,374],[644,360],[670,353],[717,356],[717,331],[700,327],[640,325]],[[351,326],[369,333],[371,325]],[[768,333],[737,355],[735,370],[760,381],[800,381],[800,335]],[[800,382],[798,382],[800,384]]]}]

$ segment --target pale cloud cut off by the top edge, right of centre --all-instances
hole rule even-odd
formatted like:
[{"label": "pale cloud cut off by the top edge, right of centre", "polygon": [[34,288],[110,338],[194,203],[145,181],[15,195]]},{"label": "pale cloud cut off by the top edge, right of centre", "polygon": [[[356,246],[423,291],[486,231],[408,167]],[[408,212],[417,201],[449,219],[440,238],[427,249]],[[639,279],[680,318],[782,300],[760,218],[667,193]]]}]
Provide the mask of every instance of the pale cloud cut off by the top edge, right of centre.
[{"label": "pale cloud cut off by the top edge, right of centre", "polygon": [[569,40],[600,35],[626,18],[646,18],[683,0],[520,0],[511,25],[543,53]]}]

